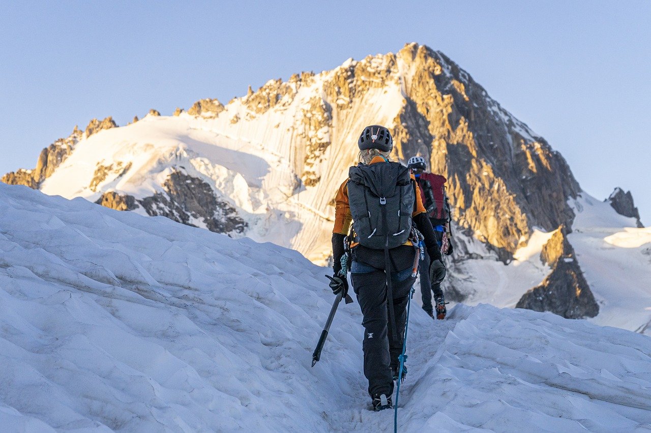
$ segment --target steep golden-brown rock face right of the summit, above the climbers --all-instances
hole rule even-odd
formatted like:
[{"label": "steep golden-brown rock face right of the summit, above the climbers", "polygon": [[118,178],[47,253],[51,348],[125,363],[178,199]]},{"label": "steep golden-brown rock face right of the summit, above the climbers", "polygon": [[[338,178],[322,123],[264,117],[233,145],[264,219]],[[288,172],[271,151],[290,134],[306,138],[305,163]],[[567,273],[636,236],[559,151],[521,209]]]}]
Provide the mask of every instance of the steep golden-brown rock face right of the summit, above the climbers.
[{"label": "steep golden-brown rock face right of the summit, above the climbers", "polygon": [[566,198],[581,190],[560,153],[494,101],[440,51],[407,44],[402,64],[406,104],[396,118],[396,156],[423,155],[447,175],[460,224],[501,256],[531,228],[572,226]]}]

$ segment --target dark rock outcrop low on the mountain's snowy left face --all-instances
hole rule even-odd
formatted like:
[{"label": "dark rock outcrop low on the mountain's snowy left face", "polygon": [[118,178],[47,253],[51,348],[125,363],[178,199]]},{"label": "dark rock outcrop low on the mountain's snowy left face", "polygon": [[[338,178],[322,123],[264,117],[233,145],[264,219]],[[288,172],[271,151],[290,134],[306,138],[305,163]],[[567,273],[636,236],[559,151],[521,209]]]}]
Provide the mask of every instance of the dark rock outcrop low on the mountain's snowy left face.
[{"label": "dark rock outcrop low on the mountain's snowy left face", "polygon": [[167,177],[163,188],[166,194],[158,192],[138,200],[149,215],[161,215],[188,226],[195,226],[193,219],[201,220],[216,233],[242,233],[247,228],[237,210],[218,200],[202,179],[176,170]]}]

